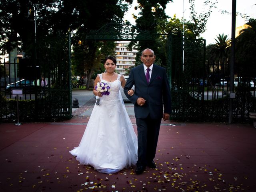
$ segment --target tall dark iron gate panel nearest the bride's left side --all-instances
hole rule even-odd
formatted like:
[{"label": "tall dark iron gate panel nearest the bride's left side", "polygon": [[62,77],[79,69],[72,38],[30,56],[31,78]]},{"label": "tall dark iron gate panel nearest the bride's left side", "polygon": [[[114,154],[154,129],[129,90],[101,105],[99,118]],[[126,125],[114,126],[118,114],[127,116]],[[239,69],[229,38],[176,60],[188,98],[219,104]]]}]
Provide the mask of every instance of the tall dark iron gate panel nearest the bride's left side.
[{"label": "tall dark iron gate panel nearest the bride's left side", "polygon": [[71,36],[38,40],[38,46],[40,53],[45,51],[48,56],[38,56],[41,73],[48,79],[48,87],[37,97],[38,119],[69,119],[72,117]]}]

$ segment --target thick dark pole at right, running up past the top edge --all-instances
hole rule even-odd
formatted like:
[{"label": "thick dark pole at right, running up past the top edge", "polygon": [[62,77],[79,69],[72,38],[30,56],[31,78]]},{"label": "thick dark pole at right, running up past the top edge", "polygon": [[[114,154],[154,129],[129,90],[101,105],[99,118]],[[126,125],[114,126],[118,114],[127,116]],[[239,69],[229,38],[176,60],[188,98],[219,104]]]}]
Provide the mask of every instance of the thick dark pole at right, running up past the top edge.
[{"label": "thick dark pole at right, running up past the top edge", "polygon": [[232,123],[234,93],[234,63],[235,63],[235,40],[236,40],[236,0],[232,0],[232,27],[231,27],[231,58],[230,58],[230,102],[228,123]]}]

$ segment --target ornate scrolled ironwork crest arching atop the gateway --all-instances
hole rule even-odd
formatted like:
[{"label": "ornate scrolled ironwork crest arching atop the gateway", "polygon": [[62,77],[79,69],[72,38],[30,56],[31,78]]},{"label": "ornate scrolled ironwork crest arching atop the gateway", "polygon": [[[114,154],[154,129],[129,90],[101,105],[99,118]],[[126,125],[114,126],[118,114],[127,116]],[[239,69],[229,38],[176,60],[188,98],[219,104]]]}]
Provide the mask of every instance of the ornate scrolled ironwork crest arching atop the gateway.
[{"label": "ornate scrolled ironwork crest arching atop the gateway", "polygon": [[142,31],[130,22],[111,22],[98,30],[90,30],[87,40],[153,40],[154,35],[149,31]]}]

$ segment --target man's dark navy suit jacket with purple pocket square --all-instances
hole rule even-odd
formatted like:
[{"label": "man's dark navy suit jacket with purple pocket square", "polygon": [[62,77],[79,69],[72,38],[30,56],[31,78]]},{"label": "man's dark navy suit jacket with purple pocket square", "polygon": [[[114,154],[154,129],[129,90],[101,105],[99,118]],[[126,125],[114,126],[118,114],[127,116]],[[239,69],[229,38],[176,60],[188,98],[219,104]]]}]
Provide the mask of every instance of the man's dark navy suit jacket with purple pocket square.
[{"label": "man's dark navy suit jacket with purple pocket square", "polygon": [[[134,95],[129,96],[128,90],[135,86]],[[134,104],[136,118],[146,118],[150,114],[151,118],[158,119],[164,113],[171,113],[170,86],[166,74],[166,69],[153,65],[150,82],[146,80],[143,64],[131,69],[129,78],[124,86],[124,94]],[[146,100],[143,106],[136,102],[139,97]]]}]

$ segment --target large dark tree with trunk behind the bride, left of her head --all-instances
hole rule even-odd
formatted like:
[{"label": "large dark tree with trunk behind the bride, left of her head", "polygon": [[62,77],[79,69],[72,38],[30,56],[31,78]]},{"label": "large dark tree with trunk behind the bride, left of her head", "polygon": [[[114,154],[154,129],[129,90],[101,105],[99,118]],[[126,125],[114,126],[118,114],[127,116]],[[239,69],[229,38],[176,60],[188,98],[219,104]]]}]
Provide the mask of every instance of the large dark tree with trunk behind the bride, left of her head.
[{"label": "large dark tree with trunk behind the bride, left of her head", "polygon": [[[127,10],[127,4],[121,0],[80,0],[77,4],[76,11],[78,14],[78,28],[74,35],[72,45],[74,48],[73,55],[78,56],[73,60],[74,65],[80,69],[79,74],[87,76],[86,89],[89,88],[90,78],[94,71],[98,71],[102,60],[108,55],[114,55],[114,42],[92,41],[86,39],[86,34],[91,30],[98,30],[110,22],[120,22]],[[129,1],[130,2],[130,1]],[[78,44],[78,42],[80,42]],[[74,63],[76,61],[76,63]],[[77,62],[78,61],[78,62]],[[84,70],[82,70],[84,69]]]}]

